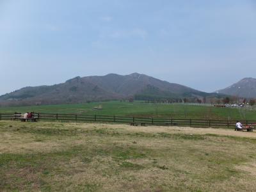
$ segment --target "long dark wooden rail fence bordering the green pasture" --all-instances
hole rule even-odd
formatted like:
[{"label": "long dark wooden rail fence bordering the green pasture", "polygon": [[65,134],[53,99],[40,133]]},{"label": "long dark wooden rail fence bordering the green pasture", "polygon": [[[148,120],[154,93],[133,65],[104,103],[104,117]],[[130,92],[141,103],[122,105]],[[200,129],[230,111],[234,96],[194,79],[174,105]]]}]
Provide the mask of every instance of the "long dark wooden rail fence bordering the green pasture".
[{"label": "long dark wooden rail fence bordering the green pasture", "polygon": [[[0,113],[0,120],[15,120],[13,113]],[[120,124],[177,125],[189,127],[234,127],[236,120],[205,120],[188,118],[138,118],[109,115],[77,115],[59,113],[34,113],[35,118],[45,121],[111,122]],[[16,118],[17,119],[17,118]],[[243,125],[256,125],[256,120],[243,120]]]}]

